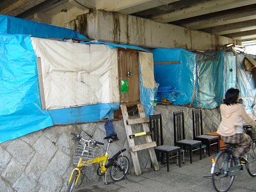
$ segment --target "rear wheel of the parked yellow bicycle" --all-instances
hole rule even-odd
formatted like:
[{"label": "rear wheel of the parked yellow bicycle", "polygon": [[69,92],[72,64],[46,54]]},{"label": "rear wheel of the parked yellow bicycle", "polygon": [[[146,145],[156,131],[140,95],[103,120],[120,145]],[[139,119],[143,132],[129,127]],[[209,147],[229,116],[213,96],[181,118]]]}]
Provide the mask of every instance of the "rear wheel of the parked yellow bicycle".
[{"label": "rear wheel of the parked yellow bicycle", "polygon": [[118,156],[110,166],[110,176],[113,180],[119,181],[124,179],[129,170],[130,162],[125,156]]}]

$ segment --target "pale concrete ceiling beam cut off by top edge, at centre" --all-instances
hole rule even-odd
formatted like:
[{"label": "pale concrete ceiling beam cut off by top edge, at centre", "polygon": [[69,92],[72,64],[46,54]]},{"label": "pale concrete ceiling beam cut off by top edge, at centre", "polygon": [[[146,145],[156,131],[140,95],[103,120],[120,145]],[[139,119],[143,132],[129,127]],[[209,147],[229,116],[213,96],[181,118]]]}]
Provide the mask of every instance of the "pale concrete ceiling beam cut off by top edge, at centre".
[{"label": "pale concrete ceiling beam cut off by top edge, at centre", "polygon": [[141,12],[143,10],[154,8],[156,6],[173,3],[175,1],[180,0],[96,0],[96,9],[129,15],[132,13]]}]

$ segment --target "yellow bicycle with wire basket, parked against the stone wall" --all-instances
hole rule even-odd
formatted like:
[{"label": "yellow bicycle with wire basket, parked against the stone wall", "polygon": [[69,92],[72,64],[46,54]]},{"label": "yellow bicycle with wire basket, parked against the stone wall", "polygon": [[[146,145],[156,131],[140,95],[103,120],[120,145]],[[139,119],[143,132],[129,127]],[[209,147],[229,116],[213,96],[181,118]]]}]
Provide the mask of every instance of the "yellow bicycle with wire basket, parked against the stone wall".
[{"label": "yellow bicycle with wire basket, parked against the stone wall", "polygon": [[70,178],[68,180],[68,192],[72,191],[72,189],[77,186],[80,174],[83,173],[85,166],[90,166],[92,164],[99,164],[97,174],[99,176],[105,175],[104,184],[111,183],[106,181],[106,172],[108,169],[113,182],[126,179],[126,175],[130,166],[129,159],[123,155],[123,152],[125,152],[126,148],[118,151],[111,158],[108,156],[109,145],[115,136],[112,135],[105,137],[104,140],[108,140],[108,147],[106,149],[105,155],[94,157],[96,149],[95,147],[97,147],[97,144],[104,145],[104,143],[95,140],[84,140],[82,136],[73,132],[71,132],[71,134],[76,137],[75,140],[82,141],[83,144],[77,145],[76,152],[74,153],[73,163],[76,164],[76,168],[74,168],[70,174]]}]

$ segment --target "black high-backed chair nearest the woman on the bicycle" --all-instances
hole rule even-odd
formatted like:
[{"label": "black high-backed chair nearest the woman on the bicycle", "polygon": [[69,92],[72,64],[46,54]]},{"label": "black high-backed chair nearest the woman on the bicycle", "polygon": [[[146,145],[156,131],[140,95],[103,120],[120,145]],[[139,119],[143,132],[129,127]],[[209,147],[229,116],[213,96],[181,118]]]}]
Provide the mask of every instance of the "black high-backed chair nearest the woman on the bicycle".
[{"label": "black high-backed chair nearest the woman on the bicycle", "polygon": [[216,145],[219,148],[219,137],[204,134],[202,123],[202,109],[192,109],[193,120],[193,140],[202,141],[206,145],[209,157],[211,156],[211,146]]}]

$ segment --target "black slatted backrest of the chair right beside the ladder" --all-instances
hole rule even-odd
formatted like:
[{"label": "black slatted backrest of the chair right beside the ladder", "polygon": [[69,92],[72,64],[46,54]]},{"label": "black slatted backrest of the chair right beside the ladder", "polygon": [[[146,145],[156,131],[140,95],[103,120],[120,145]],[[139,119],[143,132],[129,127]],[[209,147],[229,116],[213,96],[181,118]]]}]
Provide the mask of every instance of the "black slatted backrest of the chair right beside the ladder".
[{"label": "black slatted backrest of the chair right beside the ladder", "polygon": [[152,132],[152,140],[156,141],[156,145],[163,145],[163,127],[162,127],[162,115],[150,115],[149,116],[149,128]]}]

